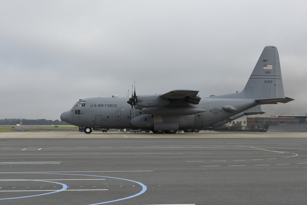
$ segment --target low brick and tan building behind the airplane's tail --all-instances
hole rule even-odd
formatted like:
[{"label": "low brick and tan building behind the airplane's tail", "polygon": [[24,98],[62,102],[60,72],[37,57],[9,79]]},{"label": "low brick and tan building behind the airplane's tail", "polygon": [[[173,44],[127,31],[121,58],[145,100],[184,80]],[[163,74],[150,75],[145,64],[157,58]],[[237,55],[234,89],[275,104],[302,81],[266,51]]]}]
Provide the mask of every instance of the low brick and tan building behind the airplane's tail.
[{"label": "low brick and tan building behind the airplane's tail", "polygon": [[233,130],[267,130],[272,125],[290,125],[306,123],[305,118],[273,117],[273,116],[243,116],[226,124]]}]

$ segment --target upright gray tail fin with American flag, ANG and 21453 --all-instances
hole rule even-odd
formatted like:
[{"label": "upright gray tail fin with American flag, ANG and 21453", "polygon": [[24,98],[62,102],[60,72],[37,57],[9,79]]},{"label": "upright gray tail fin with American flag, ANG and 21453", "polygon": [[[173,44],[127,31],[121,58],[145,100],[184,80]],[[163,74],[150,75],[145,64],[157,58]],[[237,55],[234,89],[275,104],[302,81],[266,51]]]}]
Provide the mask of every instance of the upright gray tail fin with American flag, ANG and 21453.
[{"label": "upright gray tail fin with American flag, ANG and 21453", "polygon": [[[282,75],[277,48],[266,46],[259,60],[241,92],[242,98],[270,99],[271,103],[282,102],[284,99],[284,88],[282,85]],[[263,102],[265,103],[265,101]]]}]

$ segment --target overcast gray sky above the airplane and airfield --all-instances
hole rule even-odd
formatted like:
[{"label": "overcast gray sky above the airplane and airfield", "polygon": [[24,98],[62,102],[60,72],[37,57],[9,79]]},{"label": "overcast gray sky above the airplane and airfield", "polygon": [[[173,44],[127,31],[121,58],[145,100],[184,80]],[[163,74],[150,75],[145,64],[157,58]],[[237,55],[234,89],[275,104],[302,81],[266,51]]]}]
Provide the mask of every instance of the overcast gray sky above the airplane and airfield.
[{"label": "overcast gray sky above the airplane and airfield", "polygon": [[1,1],[0,119],[60,120],[80,98],[242,91],[278,48],[286,104],[307,112],[307,3],[301,1]]}]

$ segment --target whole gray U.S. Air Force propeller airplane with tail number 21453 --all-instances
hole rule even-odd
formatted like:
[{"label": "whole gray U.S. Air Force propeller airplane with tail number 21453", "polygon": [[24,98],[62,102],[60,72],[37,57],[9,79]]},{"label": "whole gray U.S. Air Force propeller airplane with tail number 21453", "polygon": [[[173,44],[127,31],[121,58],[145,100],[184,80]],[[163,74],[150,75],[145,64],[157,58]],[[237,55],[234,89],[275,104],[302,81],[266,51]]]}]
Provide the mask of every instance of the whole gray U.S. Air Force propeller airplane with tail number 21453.
[{"label": "whole gray U.S. Air Force propeller airplane with tail number 21453", "polygon": [[[135,88],[135,87],[134,87]],[[287,103],[284,96],[277,48],[266,46],[242,92],[200,98],[198,91],[178,89],[164,94],[80,99],[61,120],[84,128],[147,129],[153,133],[176,133],[227,122],[261,104]]]}]

